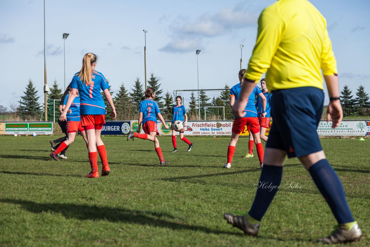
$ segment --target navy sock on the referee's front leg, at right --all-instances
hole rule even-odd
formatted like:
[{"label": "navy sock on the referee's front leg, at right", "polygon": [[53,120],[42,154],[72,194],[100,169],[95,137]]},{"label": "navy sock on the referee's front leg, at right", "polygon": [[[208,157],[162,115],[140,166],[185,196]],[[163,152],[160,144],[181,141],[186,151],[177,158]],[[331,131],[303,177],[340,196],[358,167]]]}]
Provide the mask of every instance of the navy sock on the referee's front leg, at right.
[{"label": "navy sock on the referee's front leg, at right", "polygon": [[308,170],[317,188],[329,204],[338,224],[353,222],[343,185],[326,159],[319,160]]}]

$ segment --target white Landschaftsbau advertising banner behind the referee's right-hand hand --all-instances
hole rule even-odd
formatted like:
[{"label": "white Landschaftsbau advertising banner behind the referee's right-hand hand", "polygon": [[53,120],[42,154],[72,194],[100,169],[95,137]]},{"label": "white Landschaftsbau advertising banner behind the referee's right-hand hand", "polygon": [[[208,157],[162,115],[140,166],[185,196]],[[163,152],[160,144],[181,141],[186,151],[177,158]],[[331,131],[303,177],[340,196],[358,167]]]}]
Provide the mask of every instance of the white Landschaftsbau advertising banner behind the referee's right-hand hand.
[{"label": "white Landschaftsbau advertising banner behind the referee's right-hand hand", "polygon": [[334,130],[332,121],[320,121],[316,131],[319,136],[366,136],[367,123],[366,121],[342,121]]}]

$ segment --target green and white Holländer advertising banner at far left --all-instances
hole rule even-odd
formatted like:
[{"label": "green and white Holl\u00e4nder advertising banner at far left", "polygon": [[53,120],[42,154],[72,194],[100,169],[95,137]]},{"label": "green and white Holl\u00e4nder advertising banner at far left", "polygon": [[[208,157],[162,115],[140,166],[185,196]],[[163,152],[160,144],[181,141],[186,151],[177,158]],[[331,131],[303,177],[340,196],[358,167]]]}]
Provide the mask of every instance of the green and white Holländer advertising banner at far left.
[{"label": "green and white Holl\u00e4nder advertising banner at far left", "polygon": [[52,122],[5,123],[5,133],[9,134],[53,134]]}]

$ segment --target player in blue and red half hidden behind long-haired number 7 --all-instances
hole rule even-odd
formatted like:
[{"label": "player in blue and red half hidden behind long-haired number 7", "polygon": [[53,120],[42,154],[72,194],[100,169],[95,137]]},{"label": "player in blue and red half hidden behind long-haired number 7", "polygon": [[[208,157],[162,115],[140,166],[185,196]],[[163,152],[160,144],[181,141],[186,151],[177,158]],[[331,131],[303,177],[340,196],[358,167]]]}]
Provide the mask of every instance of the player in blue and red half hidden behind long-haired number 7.
[{"label": "player in blue and red half hidden behind long-haired number 7", "polygon": [[[64,98],[62,111],[65,108],[65,104],[67,103],[67,100],[69,98],[70,94],[67,94]],[[77,131],[81,133],[81,136],[84,138],[84,141],[86,142],[86,146],[88,147],[88,141],[86,138],[85,130],[81,126],[81,117],[80,117],[80,96],[77,91],[77,96],[74,98],[73,102],[71,103],[70,108],[67,111],[67,134],[68,138],[67,140],[63,141],[57,149],[53,151],[53,153],[50,154],[50,157],[54,160],[59,161],[57,155],[63,151],[66,147],[68,147],[70,144],[73,143],[74,138],[76,136]]]}]

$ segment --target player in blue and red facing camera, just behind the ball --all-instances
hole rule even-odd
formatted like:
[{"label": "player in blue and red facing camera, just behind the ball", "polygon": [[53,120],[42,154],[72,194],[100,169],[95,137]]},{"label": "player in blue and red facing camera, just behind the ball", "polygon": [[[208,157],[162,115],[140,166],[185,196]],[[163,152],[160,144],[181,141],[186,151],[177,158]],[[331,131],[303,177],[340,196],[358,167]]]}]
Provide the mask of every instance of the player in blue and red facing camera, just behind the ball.
[{"label": "player in blue and red facing camera, just behind the ball", "polygon": [[[176,105],[172,106],[172,123],[176,120],[182,121],[184,124],[184,127],[188,126],[188,115],[186,115],[186,109],[185,106],[181,105],[182,98],[181,96],[176,97]],[[185,121],[184,121],[185,116]],[[180,140],[185,141],[186,144],[189,145],[188,152],[190,152],[191,148],[194,146],[193,143],[191,143],[188,138],[184,137],[184,130],[179,131],[180,132]],[[176,131],[172,130],[172,144],[174,145],[174,151],[172,153],[177,152],[177,145],[176,145]]]}]

